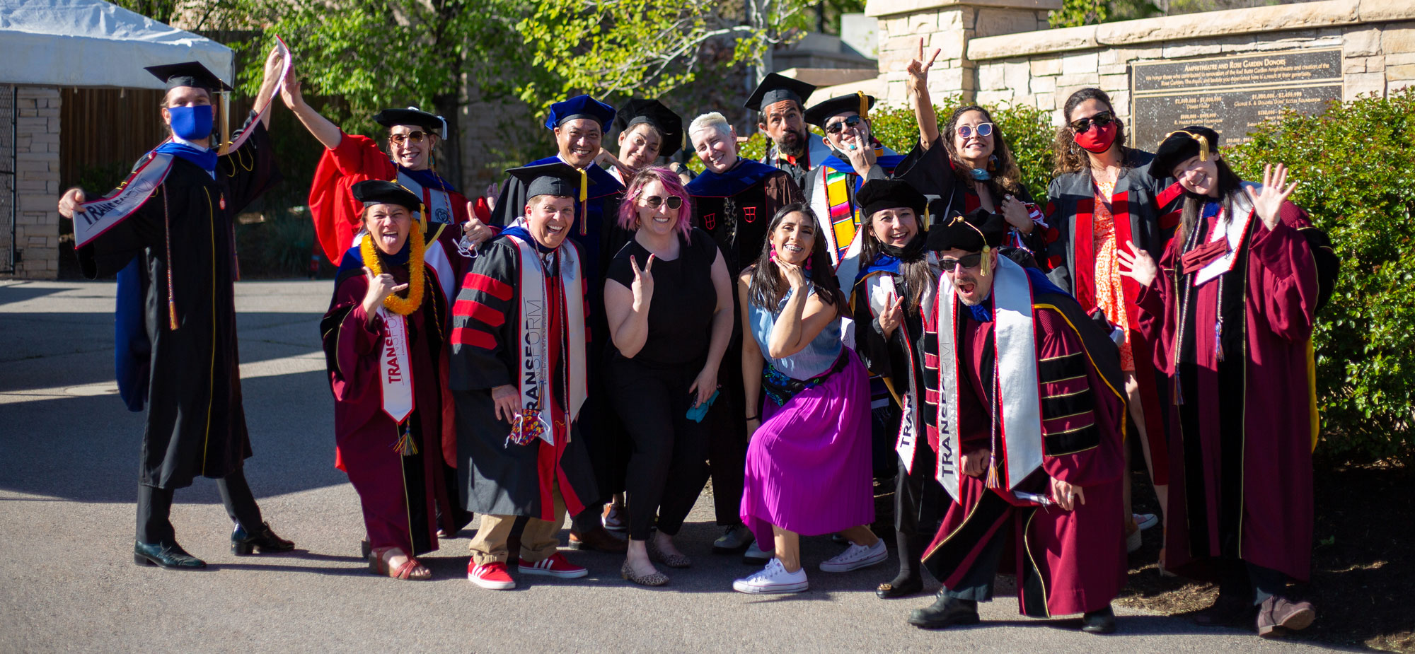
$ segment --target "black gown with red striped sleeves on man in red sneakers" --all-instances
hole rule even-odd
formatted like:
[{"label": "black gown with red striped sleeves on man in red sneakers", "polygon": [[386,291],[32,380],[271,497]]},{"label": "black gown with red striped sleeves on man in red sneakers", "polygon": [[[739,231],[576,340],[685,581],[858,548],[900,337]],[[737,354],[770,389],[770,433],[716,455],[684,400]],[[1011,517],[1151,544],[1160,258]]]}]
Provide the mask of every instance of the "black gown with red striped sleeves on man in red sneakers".
[{"label": "black gown with red striped sleeves on man in red sneakers", "polygon": [[[573,248],[573,243],[560,246]],[[584,412],[573,423],[567,420],[562,338],[550,338],[546,348],[550,358],[546,369],[553,382],[549,385],[550,411],[545,418],[553,425],[555,444],[541,439],[528,444],[509,443],[511,425],[495,415],[491,389],[515,386],[519,378],[519,266],[516,246],[507,236],[491,241],[473,260],[453,306],[450,385],[457,405],[457,478],[468,511],[552,520],[552,483],[559,484],[570,515],[600,500],[599,484],[580,430]],[[583,270],[579,279],[587,290]],[[549,333],[566,334],[566,296],[560,277],[548,273],[546,280]],[[550,297],[558,300],[550,302]],[[591,382],[590,396],[600,388]]]}]

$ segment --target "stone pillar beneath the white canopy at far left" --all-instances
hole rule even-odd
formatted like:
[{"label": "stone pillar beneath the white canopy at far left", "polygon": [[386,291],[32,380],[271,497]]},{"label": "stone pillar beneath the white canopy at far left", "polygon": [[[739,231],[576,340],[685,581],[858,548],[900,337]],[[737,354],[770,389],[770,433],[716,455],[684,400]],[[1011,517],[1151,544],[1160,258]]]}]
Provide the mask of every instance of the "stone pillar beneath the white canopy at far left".
[{"label": "stone pillar beneath the white canopy at far left", "polygon": [[[59,276],[59,89],[20,86],[14,276]],[[8,217],[4,217],[8,218]]]}]

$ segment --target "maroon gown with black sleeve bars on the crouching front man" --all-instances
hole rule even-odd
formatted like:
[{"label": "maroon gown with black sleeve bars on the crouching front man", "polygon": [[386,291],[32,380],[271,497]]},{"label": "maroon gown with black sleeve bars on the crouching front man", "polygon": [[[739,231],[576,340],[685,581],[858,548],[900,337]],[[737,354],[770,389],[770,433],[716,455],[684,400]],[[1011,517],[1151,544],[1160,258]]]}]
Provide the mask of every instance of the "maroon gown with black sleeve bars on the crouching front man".
[{"label": "maroon gown with black sleeve bars on the crouching front man", "polygon": [[[1034,273],[1039,275],[1039,273]],[[1036,508],[985,478],[959,474],[961,495],[948,504],[924,565],[957,587],[1003,529],[1000,572],[1016,572],[1020,613],[1051,617],[1104,609],[1125,585],[1121,442],[1125,430],[1119,358],[1105,334],[1070,296],[1033,285],[1037,378],[1041,401],[1041,466],[1016,490],[1050,495],[1049,478],[1080,486],[1085,504],[1073,511]],[[957,300],[954,300],[957,302]],[[990,309],[990,300],[986,303]],[[964,452],[989,447],[996,351],[993,323],[959,306],[959,423]],[[947,347],[941,345],[947,350]],[[1107,350],[1108,348],[1108,350]],[[998,435],[999,460],[1005,436]],[[1006,478],[1006,477],[1003,477]]]}]

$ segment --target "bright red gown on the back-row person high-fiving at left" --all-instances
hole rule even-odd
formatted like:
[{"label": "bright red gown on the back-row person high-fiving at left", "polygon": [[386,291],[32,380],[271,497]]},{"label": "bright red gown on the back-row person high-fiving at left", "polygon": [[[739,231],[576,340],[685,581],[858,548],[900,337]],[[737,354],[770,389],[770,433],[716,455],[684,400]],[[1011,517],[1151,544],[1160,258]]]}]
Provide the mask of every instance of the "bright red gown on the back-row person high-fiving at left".
[{"label": "bright red gown on the back-row person high-fiving at left", "polygon": [[[366,180],[396,181],[399,171],[424,178],[430,181],[424,187],[446,193],[451,207],[450,222],[467,222],[470,218],[467,197],[457,193],[441,176],[432,170],[409,171],[395,164],[388,154],[379,150],[374,139],[342,134],[338,146],[324,150],[324,154],[320,156],[320,164],[314,168],[314,183],[310,184],[310,218],[314,221],[320,248],[331,262],[341,260],[344,251],[354,242],[354,235],[362,228],[359,215],[364,214],[364,202],[354,200],[351,191],[354,184]],[[478,217],[485,219],[490,215],[485,200],[478,197],[477,201],[480,211],[485,212]],[[449,222],[439,221],[437,217],[426,217],[426,219],[429,222]]]}]

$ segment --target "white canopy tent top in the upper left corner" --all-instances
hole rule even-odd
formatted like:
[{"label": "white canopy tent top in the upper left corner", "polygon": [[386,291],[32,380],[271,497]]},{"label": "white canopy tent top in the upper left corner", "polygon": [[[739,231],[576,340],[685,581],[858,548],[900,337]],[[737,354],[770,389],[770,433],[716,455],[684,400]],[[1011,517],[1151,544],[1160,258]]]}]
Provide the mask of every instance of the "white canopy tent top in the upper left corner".
[{"label": "white canopy tent top in the upper left corner", "polygon": [[103,0],[0,0],[0,84],[163,89],[143,67],[200,61],[233,84],[235,52]]}]

